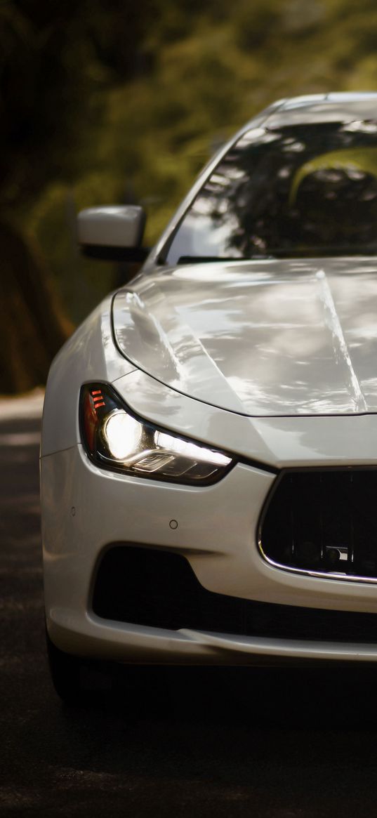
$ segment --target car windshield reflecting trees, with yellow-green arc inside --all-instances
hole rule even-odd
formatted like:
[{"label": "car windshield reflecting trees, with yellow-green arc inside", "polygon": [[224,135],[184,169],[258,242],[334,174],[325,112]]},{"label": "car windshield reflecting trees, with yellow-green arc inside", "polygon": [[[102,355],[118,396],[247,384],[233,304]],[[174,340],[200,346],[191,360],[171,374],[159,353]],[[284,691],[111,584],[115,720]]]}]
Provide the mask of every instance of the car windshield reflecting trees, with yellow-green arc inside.
[{"label": "car windshield reflecting trees, with yellow-green arc inside", "polygon": [[375,254],[377,120],[244,134],[173,236],[171,264]]}]

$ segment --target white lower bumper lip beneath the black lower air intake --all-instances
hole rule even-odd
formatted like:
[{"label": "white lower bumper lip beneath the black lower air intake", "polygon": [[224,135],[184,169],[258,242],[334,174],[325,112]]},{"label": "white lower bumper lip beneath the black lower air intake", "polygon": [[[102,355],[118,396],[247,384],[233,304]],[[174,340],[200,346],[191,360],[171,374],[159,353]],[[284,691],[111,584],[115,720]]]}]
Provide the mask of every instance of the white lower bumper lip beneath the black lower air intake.
[{"label": "white lower bumper lip beneath the black lower air intake", "polygon": [[375,645],[347,642],[262,639],[203,631],[163,631],[120,625],[77,611],[52,611],[49,634],[61,649],[78,656],[124,663],[195,665],[266,665],[284,659],[300,661],[376,662]]}]

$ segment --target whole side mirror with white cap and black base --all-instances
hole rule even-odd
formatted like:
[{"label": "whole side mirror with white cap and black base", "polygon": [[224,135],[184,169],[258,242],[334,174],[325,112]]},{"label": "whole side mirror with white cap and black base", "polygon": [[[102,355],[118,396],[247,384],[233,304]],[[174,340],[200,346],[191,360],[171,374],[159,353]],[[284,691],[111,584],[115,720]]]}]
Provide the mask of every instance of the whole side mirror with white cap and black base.
[{"label": "whole side mirror with white cap and black base", "polygon": [[78,240],[85,255],[111,261],[144,261],[141,247],[146,213],[139,205],[107,205],[81,210]]}]

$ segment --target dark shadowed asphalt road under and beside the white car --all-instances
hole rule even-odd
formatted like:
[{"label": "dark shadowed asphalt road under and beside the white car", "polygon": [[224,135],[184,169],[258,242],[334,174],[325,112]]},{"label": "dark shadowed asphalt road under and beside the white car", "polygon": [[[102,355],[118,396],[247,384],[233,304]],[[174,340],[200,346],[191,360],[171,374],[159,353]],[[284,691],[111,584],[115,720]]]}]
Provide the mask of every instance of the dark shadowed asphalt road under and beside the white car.
[{"label": "dark shadowed asphalt road under and beside the white car", "polygon": [[65,708],[44,648],[38,418],[0,411],[1,816],[375,816],[369,669],[185,670]]}]

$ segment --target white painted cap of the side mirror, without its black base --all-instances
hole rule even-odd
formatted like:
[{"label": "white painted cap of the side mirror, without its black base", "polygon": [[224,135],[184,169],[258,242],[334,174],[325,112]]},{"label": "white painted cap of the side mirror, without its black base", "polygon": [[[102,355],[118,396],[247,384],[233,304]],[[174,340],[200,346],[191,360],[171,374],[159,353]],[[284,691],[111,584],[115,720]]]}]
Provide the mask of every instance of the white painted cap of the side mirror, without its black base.
[{"label": "white painted cap of the side mirror, without its black base", "polygon": [[78,215],[79,244],[137,247],[144,223],[144,211],[138,205],[87,208]]}]

